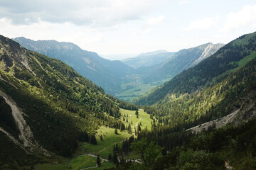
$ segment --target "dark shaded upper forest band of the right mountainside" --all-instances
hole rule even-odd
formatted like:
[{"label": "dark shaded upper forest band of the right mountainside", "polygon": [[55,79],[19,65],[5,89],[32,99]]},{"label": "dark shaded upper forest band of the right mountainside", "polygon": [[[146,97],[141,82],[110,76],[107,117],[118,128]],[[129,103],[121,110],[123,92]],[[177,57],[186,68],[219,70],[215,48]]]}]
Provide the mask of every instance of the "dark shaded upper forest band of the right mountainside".
[{"label": "dark shaded upper forest band of the right mountainside", "polygon": [[218,52],[200,62],[195,67],[178,74],[171,81],[159,86],[148,94],[137,98],[134,103],[151,105],[164,99],[167,95],[192,94],[195,91],[207,89],[223,81],[228,74],[243,66],[255,57],[256,33],[242,35],[233,40]]}]

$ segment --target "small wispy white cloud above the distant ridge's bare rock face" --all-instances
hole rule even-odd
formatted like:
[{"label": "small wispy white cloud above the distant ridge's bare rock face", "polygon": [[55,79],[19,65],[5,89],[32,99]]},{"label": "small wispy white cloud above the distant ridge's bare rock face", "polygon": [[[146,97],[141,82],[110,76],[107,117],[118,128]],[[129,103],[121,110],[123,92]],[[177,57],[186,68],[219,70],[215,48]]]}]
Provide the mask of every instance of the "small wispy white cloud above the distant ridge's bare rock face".
[{"label": "small wispy white cloud above the distant ridge's bare rock face", "polygon": [[183,30],[208,30],[215,26],[219,18],[220,16],[216,16],[212,18],[202,18],[196,21],[191,21],[190,25],[187,28],[183,28]]}]

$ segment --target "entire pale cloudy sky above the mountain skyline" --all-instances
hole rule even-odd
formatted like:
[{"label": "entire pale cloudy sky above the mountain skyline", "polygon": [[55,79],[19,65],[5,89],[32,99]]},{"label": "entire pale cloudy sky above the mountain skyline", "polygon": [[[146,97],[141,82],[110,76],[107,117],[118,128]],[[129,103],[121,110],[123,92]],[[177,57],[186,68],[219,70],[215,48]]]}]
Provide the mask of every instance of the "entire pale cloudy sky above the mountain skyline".
[{"label": "entire pale cloudy sky above the mountain skyline", "polygon": [[0,0],[1,35],[73,42],[109,58],[255,31],[255,0]]}]

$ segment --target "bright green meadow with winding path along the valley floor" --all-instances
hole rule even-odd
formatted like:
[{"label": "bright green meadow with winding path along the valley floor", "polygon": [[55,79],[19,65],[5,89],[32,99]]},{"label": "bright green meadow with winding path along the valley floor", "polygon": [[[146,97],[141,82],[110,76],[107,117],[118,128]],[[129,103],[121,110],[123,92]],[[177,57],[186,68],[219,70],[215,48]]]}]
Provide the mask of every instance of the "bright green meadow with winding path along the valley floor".
[{"label": "bright green meadow with winding path along the valley floor", "polygon": [[[124,109],[120,109],[121,112],[121,118],[124,117],[124,115],[128,115],[128,122],[133,122],[132,126],[132,134],[134,134],[134,127],[136,128],[137,123],[141,122],[142,126],[141,128],[151,128],[151,119],[149,118],[149,114],[145,113],[142,109],[139,109],[139,118],[136,118],[135,111],[128,111]],[[126,122],[126,118],[123,123],[125,125],[129,125],[129,123]],[[78,147],[78,150],[73,154],[73,159],[68,159],[63,162],[63,164],[36,164],[35,169],[36,170],[43,170],[43,169],[49,169],[49,170],[68,170],[69,166],[72,167],[73,170],[78,169],[86,169],[90,167],[94,167],[92,169],[107,169],[114,167],[115,164],[112,162],[102,162],[102,165],[100,167],[96,166],[96,157],[91,157],[90,155],[85,154],[99,154],[100,157],[103,159],[107,159],[109,154],[112,154],[113,152],[113,146],[118,144],[120,147],[122,146],[122,141],[126,140],[127,138],[131,137],[132,134],[129,134],[127,130],[123,130],[120,132],[118,130],[118,135],[114,134],[114,129],[107,128],[105,126],[100,127],[97,129],[96,139],[97,139],[97,145],[92,145],[90,143],[80,143],[80,146]],[[102,135],[102,141],[100,140],[100,135]],[[130,158],[137,158],[137,155],[131,155]]]}]

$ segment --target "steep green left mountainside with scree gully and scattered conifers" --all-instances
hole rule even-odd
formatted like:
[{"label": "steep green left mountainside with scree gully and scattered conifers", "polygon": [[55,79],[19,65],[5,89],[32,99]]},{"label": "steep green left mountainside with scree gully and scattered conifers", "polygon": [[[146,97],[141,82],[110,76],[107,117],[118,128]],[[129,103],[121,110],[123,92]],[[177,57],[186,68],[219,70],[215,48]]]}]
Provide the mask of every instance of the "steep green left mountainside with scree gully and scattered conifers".
[{"label": "steep green left mountainside with scree gully and scattered conifers", "polygon": [[78,141],[95,144],[97,127],[120,128],[119,108],[137,109],[2,35],[0,49],[0,169],[59,162]]}]

